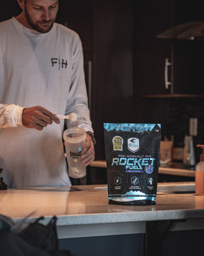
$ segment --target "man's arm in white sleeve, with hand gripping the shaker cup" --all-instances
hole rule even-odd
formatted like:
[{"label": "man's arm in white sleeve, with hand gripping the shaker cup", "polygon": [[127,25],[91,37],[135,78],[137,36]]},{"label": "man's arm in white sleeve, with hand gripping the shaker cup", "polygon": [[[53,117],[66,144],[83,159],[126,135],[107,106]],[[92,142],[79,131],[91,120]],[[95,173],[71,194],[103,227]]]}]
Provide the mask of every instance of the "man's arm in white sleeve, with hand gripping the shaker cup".
[{"label": "man's arm in white sleeve, with hand gripping the shaker cup", "polygon": [[[77,46],[73,55],[72,77],[70,92],[67,99],[66,115],[70,113],[78,114],[79,118],[76,122],[66,120],[67,127],[78,126],[86,132],[93,133],[90,113],[88,108],[88,97],[86,83],[84,79],[83,69],[83,51],[80,38],[77,38]],[[81,154],[81,162],[87,166],[95,159],[94,142],[89,133],[87,133],[86,144],[83,147]]]}]

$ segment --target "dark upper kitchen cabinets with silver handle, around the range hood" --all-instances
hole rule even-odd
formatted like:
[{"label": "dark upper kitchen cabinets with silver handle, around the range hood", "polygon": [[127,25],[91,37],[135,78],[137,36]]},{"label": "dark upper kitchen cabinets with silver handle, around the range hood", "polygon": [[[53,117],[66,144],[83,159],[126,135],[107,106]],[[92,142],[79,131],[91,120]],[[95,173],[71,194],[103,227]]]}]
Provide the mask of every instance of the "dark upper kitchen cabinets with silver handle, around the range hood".
[{"label": "dark upper kitchen cabinets with silver handle, around the range hood", "polygon": [[[134,95],[204,95],[204,41],[161,39],[157,35],[181,23],[202,20],[203,2],[135,1]],[[165,86],[165,62],[166,78]]]}]

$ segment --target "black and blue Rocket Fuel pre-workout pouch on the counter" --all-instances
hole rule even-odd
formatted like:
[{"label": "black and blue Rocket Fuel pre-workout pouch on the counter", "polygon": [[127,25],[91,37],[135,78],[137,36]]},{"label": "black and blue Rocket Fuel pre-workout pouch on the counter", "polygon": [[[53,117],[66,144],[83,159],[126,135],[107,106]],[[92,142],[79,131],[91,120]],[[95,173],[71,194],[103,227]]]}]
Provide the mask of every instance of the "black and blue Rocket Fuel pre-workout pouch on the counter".
[{"label": "black and blue Rocket Fuel pre-workout pouch on the counter", "polygon": [[108,204],[156,204],[160,127],[104,123]]}]

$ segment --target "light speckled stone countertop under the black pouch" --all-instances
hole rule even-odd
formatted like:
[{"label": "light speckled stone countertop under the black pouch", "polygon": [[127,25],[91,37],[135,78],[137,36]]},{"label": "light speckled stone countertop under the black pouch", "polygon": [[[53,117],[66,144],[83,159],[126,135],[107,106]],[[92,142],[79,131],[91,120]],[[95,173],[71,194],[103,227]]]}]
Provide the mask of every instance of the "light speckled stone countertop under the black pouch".
[{"label": "light speckled stone countertop under the black pouch", "polygon": [[[105,225],[104,235],[115,228],[120,230],[114,234],[123,233],[125,229],[131,230],[127,232],[134,229],[135,233],[138,228],[140,233],[145,233],[144,223],[154,220],[203,218],[204,226],[204,196],[194,194],[194,188],[194,182],[158,183],[156,205],[148,206],[109,205],[107,185],[8,188],[0,190],[0,213],[14,221],[29,214],[29,222],[44,216],[44,223],[56,215],[57,227],[62,229],[59,229],[60,238],[88,236],[87,227],[91,232],[89,236],[101,235],[101,225]],[[115,226],[108,231],[107,225]],[[93,226],[95,231],[91,229]]]}]

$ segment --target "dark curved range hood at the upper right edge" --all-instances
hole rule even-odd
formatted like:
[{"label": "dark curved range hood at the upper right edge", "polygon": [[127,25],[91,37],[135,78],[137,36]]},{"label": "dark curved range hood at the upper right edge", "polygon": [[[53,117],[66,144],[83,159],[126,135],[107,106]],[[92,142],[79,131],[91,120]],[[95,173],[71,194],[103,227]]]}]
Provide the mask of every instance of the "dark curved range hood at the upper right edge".
[{"label": "dark curved range hood at the upper right edge", "polygon": [[164,39],[204,40],[204,21],[186,22],[157,35]]}]

